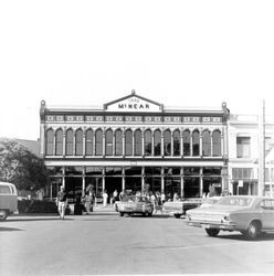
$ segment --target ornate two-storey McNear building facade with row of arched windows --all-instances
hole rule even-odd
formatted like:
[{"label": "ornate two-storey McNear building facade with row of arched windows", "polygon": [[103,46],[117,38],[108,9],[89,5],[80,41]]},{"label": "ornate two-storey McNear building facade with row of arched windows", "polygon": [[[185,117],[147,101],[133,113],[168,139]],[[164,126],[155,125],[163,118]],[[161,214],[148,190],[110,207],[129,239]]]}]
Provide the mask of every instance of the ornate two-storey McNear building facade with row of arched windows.
[{"label": "ornate two-storey McNear building facade with row of arched windows", "polygon": [[41,103],[41,156],[50,171],[48,197],[93,187],[97,197],[123,189],[202,197],[229,188],[228,118],[220,108],[167,108],[131,94],[103,107]]}]

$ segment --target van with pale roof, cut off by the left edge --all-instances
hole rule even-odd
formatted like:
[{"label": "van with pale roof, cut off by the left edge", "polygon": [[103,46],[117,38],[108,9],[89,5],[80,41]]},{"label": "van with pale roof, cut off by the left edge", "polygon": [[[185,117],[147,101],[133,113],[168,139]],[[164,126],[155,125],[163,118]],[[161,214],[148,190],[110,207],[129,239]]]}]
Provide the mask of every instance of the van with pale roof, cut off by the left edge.
[{"label": "van with pale roof, cut off by the left edge", "polygon": [[0,182],[0,221],[18,212],[18,192],[12,183]]}]

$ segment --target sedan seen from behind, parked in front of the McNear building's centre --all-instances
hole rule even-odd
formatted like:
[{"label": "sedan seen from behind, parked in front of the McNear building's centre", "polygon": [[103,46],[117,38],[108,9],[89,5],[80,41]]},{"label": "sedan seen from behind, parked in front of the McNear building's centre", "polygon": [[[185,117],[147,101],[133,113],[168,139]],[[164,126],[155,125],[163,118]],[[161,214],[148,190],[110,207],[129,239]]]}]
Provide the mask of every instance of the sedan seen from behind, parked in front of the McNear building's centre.
[{"label": "sedan seen from behind, parked in front of the McNear building's centre", "polygon": [[126,201],[119,202],[117,211],[120,216],[124,214],[143,214],[143,216],[151,216],[154,212],[154,204],[146,197],[129,195]]}]

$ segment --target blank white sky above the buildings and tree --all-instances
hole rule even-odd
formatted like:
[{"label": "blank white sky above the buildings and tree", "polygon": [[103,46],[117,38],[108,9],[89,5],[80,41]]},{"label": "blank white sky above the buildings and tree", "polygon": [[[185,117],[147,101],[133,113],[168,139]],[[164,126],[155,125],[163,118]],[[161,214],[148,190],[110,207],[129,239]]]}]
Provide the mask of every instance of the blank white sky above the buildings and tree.
[{"label": "blank white sky above the buildings and tree", "polygon": [[136,94],[274,115],[274,1],[0,1],[0,137],[38,139],[39,108]]}]

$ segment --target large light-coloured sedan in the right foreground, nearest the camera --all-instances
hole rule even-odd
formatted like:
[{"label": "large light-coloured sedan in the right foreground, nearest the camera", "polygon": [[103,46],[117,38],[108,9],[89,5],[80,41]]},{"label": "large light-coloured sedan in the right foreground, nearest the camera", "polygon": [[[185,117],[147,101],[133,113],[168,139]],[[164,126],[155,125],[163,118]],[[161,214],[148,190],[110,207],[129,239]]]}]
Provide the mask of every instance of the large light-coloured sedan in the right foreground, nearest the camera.
[{"label": "large light-coloured sedan in the right foreground, nearest the camera", "polygon": [[209,236],[222,231],[240,231],[249,240],[262,232],[274,231],[274,199],[255,195],[230,195],[221,198],[208,208],[189,210],[188,225],[203,227]]}]

